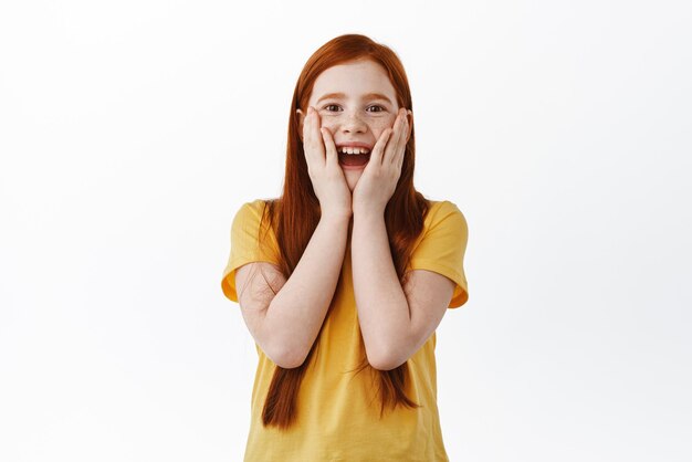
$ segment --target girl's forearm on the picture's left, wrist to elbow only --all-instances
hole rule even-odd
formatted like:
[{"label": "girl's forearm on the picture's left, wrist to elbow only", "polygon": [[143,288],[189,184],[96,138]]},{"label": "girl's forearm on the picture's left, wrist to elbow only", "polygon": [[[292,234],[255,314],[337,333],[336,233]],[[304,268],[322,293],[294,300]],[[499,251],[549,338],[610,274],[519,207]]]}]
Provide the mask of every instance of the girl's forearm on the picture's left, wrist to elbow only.
[{"label": "girl's forearm on the picture's left, wrist to elbow only", "polygon": [[322,217],[291,277],[266,311],[264,328],[289,364],[303,364],[322,327],[342,271],[348,217]]}]

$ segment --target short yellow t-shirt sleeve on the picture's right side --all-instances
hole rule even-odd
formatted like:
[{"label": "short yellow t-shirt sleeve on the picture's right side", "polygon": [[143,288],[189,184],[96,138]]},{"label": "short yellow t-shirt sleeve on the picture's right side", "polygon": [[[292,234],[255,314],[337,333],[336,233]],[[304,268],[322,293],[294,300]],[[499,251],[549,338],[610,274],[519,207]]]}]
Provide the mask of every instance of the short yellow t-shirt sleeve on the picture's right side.
[{"label": "short yellow t-shirt sleeve on the picture's right side", "polygon": [[457,285],[449,307],[457,308],[469,300],[463,267],[469,227],[459,208],[450,201],[433,202],[424,220],[424,229],[415,248],[409,266],[442,274]]}]

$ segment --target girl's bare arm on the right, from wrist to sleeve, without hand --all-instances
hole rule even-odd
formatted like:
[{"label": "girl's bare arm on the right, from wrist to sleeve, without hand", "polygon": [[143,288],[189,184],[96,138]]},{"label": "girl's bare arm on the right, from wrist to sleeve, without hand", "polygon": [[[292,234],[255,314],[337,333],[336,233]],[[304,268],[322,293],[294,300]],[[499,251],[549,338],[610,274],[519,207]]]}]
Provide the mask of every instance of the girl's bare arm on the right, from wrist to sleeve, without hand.
[{"label": "girl's bare arm on the right, from wrist to sleeve, without hand", "polygon": [[397,276],[384,213],[354,214],[354,292],[368,361],[380,370],[406,363],[440,324],[454,290],[448,277],[426,270]]}]

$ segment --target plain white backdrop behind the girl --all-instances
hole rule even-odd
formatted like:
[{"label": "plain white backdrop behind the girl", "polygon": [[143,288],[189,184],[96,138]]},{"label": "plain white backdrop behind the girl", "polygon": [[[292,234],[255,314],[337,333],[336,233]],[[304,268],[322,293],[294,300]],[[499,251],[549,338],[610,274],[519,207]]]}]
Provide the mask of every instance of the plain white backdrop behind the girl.
[{"label": "plain white backdrop behind the girl", "polygon": [[[692,460],[686,1],[2,1],[0,460],[240,461],[231,221],[281,192],[327,40],[402,60],[416,187],[466,217],[452,461]],[[375,459],[374,459],[375,461]]]}]

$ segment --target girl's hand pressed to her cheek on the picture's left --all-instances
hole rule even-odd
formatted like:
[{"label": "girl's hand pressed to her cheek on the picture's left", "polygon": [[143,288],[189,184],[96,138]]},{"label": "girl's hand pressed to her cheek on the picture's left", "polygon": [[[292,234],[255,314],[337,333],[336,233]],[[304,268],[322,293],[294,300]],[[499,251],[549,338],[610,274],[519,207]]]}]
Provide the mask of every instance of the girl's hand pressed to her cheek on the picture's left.
[{"label": "girl's hand pressed to her cheek on the picture's left", "polygon": [[321,127],[319,115],[312,106],[307,108],[303,120],[303,150],[322,216],[350,217],[352,195],[344,170],[338,164],[332,133],[328,128]]}]

